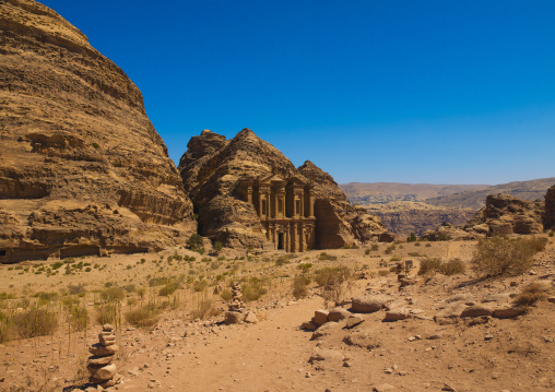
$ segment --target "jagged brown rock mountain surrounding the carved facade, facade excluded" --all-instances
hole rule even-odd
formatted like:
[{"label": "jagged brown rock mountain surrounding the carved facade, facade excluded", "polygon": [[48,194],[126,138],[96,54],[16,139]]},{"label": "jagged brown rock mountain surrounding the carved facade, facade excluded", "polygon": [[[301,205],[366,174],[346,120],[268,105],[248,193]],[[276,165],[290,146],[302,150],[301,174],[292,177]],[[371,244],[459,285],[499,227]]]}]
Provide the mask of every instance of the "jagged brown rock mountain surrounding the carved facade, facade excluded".
[{"label": "jagged brown rock mountain surrounding the carved facade, facade excluded", "polygon": [[214,241],[231,247],[269,245],[255,205],[243,201],[236,191],[239,179],[268,175],[314,182],[318,248],[365,241],[386,231],[379,223],[369,224],[329,175],[308,162],[297,170],[279,150],[249,129],[232,140],[204,130],[191,138],[187,149],[178,169],[199,215],[200,233]]}]

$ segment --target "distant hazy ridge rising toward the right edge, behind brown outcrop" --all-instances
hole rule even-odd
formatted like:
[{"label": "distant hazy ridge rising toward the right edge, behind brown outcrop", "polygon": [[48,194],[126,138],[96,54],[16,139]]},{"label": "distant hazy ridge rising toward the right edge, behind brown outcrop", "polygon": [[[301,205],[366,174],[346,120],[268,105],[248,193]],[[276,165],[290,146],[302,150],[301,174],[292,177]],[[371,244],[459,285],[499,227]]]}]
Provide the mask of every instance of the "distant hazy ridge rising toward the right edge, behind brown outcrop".
[{"label": "distant hazy ridge rising toward the right edge, behind brown outcrop", "polygon": [[522,200],[543,200],[547,189],[554,185],[555,177],[530,181],[515,181],[446,197],[430,198],[424,200],[424,202],[433,205],[479,210],[484,206],[484,202],[488,194],[506,193]]}]

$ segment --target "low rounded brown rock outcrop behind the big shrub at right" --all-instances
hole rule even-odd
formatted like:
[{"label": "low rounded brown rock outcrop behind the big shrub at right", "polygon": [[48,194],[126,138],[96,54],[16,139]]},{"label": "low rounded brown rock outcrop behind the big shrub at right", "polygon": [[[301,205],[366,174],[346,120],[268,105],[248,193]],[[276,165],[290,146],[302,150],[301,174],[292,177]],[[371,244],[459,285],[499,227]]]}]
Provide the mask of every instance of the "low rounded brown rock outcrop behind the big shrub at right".
[{"label": "low rounded brown rock outcrop behind the big shrub at right", "polygon": [[504,234],[538,234],[543,231],[544,203],[521,200],[510,194],[488,195],[486,206],[469,221],[470,233],[498,236]]}]

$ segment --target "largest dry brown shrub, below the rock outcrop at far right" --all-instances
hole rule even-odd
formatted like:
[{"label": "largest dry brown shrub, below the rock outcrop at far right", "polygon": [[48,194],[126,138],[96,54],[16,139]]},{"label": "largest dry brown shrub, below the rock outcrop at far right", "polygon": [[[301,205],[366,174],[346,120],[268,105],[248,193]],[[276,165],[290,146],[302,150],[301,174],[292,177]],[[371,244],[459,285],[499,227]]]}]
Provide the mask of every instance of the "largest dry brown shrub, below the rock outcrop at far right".
[{"label": "largest dry brown shrub, below the rock outcrop at far right", "polygon": [[546,238],[491,238],[480,240],[473,269],[489,276],[518,275],[530,270],[535,253],[545,249]]}]

